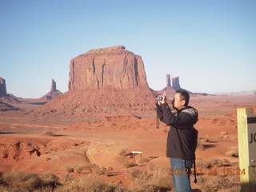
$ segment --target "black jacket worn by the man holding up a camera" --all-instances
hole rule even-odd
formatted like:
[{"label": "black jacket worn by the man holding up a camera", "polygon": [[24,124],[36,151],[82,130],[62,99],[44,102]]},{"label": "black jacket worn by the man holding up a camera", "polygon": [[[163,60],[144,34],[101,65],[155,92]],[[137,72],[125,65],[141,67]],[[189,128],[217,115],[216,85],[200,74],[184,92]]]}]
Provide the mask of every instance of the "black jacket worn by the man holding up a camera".
[{"label": "black jacket worn by the man holding up a camera", "polygon": [[[198,110],[186,106],[177,113],[171,113],[170,107],[164,103],[157,104],[157,113],[160,121],[170,126],[167,138],[166,156],[169,158],[194,159],[194,150],[197,142],[194,124],[198,122]],[[196,137],[196,138],[195,138]],[[195,146],[194,146],[195,145]]]}]

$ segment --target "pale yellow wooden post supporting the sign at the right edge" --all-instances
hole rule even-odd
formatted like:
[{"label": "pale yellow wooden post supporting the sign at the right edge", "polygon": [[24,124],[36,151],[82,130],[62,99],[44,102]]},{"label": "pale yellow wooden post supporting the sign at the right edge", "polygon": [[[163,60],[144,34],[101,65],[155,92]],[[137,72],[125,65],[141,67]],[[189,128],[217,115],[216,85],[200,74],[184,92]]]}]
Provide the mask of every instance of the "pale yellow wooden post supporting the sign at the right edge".
[{"label": "pale yellow wooden post supporting the sign at the right edge", "polygon": [[245,170],[244,173],[240,172],[240,185],[241,191],[244,192],[256,192],[256,168],[249,166],[249,141],[246,123],[246,114],[253,113],[252,108],[237,109],[239,169]]}]

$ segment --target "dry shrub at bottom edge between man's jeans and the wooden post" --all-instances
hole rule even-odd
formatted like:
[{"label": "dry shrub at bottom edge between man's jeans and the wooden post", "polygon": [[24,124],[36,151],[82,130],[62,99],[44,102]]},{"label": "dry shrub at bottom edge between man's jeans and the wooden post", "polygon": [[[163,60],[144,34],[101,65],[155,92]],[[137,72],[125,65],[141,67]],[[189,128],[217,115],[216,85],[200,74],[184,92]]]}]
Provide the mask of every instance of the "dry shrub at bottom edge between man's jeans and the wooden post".
[{"label": "dry shrub at bottom edge between man's jeans and the wooden post", "polygon": [[236,178],[225,177],[225,176],[216,176],[211,179],[209,178],[198,178],[198,185],[201,186],[201,190],[204,192],[212,192],[218,190],[228,190],[238,188],[239,183],[235,182]]}]

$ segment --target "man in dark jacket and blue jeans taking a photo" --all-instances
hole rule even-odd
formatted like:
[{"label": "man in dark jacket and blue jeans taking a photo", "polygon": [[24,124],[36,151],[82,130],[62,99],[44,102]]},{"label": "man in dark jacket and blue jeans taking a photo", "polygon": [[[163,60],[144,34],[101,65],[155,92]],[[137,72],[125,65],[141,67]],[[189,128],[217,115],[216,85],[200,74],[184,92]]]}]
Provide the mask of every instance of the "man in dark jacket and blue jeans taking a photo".
[{"label": "man in dark jacket and blue jeans taking a photo", "polygon": [[190,192],[190,169],[195,158],[197,133],[194,124],[198,121],[198,111],[188,106],[190,94],[186,90],[176,90],[171,113],[166,103],[166,94],[157,102],[158,117],[170,126],[167,137],[166,156],[170,158],[171,173],[175,192]]}]

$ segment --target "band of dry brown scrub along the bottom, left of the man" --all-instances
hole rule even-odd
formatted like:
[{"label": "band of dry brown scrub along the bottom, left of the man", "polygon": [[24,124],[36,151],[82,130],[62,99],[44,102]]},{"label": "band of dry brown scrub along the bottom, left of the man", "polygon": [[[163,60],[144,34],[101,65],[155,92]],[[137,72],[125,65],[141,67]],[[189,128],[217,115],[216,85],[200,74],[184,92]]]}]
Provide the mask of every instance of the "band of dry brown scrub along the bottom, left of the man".
[{"label": "band of dry brown scrub along the bottom, left of the man", "polygon": [[[97,167],[88,164],[80,169],[91,169]],[[96,173],[66,174],[66,178],[61,178],[63,184],[60,184],[59,178],[54,174],[43,174],[41,178],[38,174],[14,172],[6,176],[0,173],[0,191],[3,192],[166,192],[172,189],[172,179],[169,169],[161,166],[149,166],[150,173],[146,170],[130,170],[128,174],[134,181],[130,189],[120,184],[108,184],[104,182],[102,176]]]}]

